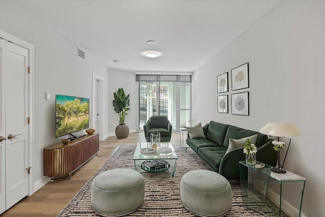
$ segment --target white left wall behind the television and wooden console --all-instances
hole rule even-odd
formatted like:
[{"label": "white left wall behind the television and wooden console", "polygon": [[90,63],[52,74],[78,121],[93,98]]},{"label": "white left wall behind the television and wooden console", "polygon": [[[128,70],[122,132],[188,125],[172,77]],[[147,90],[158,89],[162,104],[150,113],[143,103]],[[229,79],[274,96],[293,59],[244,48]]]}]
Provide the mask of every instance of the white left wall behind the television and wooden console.
[{"label": "white left wall behind the television and wooden console", "polygon": [[[55,34],[19,4],[1,1],[0,5],[0,28],[35,46],[34,164],[30,165],[34,192],[48,181],[43,176],[43,148],[60,142],[55,139],[55,94],[90,98],[91,103],[92,73],[105,78],[107,86],[108,69],[102,64],[103,57],[85,48],[86,60],[77,57],[77,44]],[[45,100],[45,92],[50,92],[50,101]],[[107,113],[107,98],[105,101]]]}]

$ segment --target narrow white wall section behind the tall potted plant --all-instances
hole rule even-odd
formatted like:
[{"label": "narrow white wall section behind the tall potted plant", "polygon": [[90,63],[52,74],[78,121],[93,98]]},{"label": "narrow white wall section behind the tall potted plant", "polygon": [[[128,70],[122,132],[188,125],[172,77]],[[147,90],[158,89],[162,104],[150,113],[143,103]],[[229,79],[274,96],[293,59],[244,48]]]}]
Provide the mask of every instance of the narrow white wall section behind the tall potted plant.
[{"label": "narrow white wall section behind the tall potted plant", "polygon": [[122,71],[117,69],[108,70],[108,132],[109,136],[115,136],[115,127],[119,124],[118,114],[114,111],[113,99],[114,92],[118,88],[123,88],[126,95],[130,95],[130,106],[125,116],[125,125],[130,132],[136,132],[137,127],[137,82],[136,75],[133,72]]}]

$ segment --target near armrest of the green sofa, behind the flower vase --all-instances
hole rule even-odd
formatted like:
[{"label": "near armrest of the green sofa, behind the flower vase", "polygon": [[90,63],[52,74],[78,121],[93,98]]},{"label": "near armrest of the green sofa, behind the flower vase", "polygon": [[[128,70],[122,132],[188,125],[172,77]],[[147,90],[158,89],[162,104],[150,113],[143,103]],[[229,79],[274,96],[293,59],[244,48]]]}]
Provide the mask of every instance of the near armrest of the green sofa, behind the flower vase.
[{"label": "near armrest of the green sofa, behind the flower vase", "polygon": [[[267,143],[257,148],[256,160],[275,166],[277,163],[277,153],[273,149],[272,141],[273,139],[269,139]],[[226,179],[239,179],[239,161],[245,161],[242,147],[236,148],[223,156],[218,173]]]}]

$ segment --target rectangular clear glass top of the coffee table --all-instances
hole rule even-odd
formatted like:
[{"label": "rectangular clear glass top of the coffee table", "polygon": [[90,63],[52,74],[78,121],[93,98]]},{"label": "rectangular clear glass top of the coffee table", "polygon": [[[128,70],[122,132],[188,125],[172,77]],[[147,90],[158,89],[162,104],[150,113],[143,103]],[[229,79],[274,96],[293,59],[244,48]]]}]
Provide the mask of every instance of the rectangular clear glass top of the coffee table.
[{"label": "rectangular clear glass top of the coffee table", "polygon": [[[141,153],[140,150],[142,148],[151,147],[151,142],[138,142],[136,151],[134,152],[134,156],[132,160],[152,160],[152,159],[178,159],[177,154],[174,150],[173,145],[171,143],[161,143],[160,147],[156,148],[156,151],[153,153]],[[172,149],[170,153],[160,153],[159,148],[169,147]]]}]

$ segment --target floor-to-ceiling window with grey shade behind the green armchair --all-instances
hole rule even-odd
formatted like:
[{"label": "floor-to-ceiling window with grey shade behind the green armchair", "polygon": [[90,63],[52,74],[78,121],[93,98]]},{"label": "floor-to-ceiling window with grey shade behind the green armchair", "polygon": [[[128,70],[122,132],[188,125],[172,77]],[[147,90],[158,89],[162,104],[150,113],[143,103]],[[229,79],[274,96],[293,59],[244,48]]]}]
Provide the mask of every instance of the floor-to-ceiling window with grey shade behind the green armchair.
[{"label": "floor-to-ceiling window with grey shade behind the green armchair", "polygon": [[191,75],[137,75],[139,129],[150,116],[168,116],[173,129],[190,126]]}]

